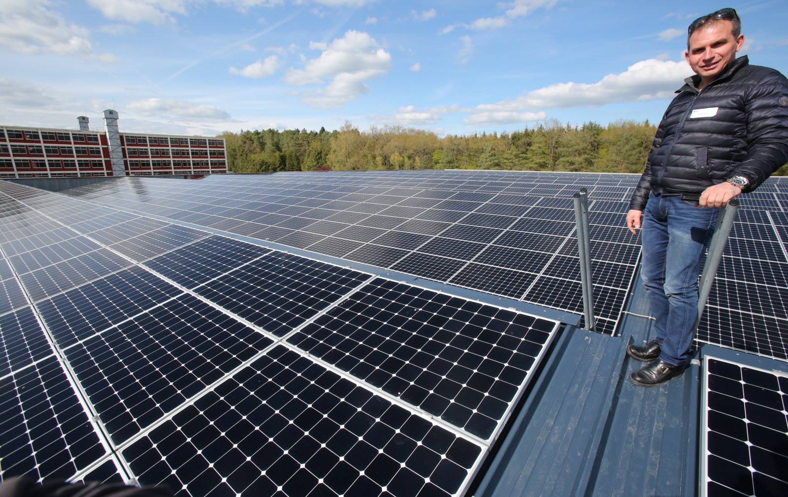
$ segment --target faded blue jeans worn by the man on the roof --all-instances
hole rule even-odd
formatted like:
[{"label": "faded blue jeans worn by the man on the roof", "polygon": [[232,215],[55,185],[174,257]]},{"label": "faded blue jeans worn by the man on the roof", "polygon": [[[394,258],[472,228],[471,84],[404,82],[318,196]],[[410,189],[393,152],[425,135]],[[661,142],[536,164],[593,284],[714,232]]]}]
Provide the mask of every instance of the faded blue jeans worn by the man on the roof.
[{"label": "faded blue jeans worn by the man on the roof", "polygon": [[[694,203],[694,202],[693,202]],[[680,195],[649,196],[643,212],[641,277],[656,318],[660,360],[685,365],[697,319],[697,279],[718,208],[695,207]]]}]

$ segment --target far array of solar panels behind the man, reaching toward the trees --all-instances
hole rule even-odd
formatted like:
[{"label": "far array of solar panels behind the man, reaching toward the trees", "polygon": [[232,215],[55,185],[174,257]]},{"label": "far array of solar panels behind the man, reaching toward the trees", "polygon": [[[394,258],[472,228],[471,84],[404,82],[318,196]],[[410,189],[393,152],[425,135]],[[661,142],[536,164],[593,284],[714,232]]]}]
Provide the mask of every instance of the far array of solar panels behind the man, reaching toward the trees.
[{"label": "far array of solar panels behind the man, reaching toward the trees", "polygon": [[[125,178],[69,194],[582,313],[571,195],[589,189],[595,329],[614,333],[640,255],[624,227],[637,175],[281,172]],[[788,180],[750,194],[697,340],[788,358]]]}]

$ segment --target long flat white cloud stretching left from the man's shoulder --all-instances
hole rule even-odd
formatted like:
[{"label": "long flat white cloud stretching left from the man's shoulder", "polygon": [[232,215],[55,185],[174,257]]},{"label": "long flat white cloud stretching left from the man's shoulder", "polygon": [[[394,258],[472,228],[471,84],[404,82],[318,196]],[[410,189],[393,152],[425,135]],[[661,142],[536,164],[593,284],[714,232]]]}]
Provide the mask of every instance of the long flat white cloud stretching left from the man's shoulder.
[{"label": "long flat white cloud stretching left from the man's shoulder", "polygon": [[648,59],[630,65],[619,74],[608,74],[597,83],[556,83],[511,100],[476,106],[474,110],[476,114],[507,113],[671,98],[682,80],[690,75],[692,70],[685,61]]}]

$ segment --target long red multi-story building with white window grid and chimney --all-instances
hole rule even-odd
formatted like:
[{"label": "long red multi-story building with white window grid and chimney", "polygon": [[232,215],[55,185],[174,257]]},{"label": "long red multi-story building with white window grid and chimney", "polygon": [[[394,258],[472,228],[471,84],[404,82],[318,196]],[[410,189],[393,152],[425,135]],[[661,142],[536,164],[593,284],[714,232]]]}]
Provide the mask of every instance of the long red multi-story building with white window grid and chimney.
[{"label": "long red multi-story building with white window grid and chimney", "polygon": [[227,172],[225,139],[117,131],[104,111],[105,132],[0,126],[0,178],[151,176]]}]

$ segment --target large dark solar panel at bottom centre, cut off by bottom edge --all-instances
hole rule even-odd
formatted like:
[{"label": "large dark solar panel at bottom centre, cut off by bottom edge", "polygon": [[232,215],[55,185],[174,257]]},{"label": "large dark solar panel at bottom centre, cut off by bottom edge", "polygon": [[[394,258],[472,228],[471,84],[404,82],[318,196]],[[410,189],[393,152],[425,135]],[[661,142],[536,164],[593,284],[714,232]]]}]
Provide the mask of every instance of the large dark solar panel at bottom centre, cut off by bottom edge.
[{"label": "large dark solar panel at bottom centre, cut off by bottom edge", "polygon": [[280,345],[122,454],[178,495],[444,497],[481,452]]}]

